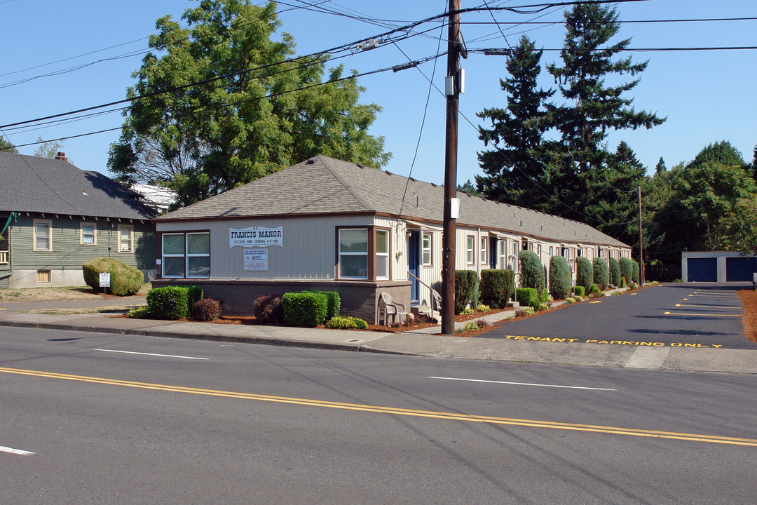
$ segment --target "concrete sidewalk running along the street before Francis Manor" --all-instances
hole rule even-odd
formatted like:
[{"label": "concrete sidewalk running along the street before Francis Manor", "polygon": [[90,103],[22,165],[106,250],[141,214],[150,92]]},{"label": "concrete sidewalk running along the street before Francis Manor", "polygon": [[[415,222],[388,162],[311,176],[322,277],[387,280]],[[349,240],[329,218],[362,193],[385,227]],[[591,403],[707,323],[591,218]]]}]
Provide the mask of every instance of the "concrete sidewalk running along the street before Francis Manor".
[{"label": "concrete sidewalk running along the street before Francis Manor", "polygon": [[[575,366],[606,366],[631,369],[686,370],[757,374],[757,351],[743,349],[633,347],[623,345],[525,341],[438,335],[440,327],[402,333],[360,332],[336,329],[306,329],[280,326],[229,325],[186,321],[133,320],[108,313],[51,315],[23,310],[71,307],[104,307],[144,304],[144,298],[104,299],[104,301],[51,301],[2,304],[0,326],[25,326],[125,335],[236,341],[254,344],[288,345],[385,354],[553,363]],[[497,323],[512,317],[500,312],[485,319]],[[462,327],[465,323],[456,323]]]}]

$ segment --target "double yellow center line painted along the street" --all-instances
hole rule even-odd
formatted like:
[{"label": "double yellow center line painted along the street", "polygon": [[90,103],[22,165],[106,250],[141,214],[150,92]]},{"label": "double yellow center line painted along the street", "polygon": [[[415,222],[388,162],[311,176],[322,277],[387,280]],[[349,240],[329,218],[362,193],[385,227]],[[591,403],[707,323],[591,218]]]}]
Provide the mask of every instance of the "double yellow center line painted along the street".
[{"label": "double yellow center line painted along the street", "polygon": [[12,373],[22,376],[45,377],[48,379],[63,379],[78,382],[92,382],[95,384],[118,385],[129,388],[152,389],[155,391],[170,391],[176,393],[204,394],[207,396],[240,398],[243,400],[269,401],[281,404],[307,405],[310,407],[326,407],[341,410],[357,410],[361,412],[375,412],[394,414],[396,416],[415,416],[430,419],[446,419],[467,422],[486,422],[489,424],[527,426],[531,428],[563,429],[575,432],[606,433],[613,435],[627,435],[646,438],[665,438],[669,440],[684,440],[697,442],[710,442],[713,444],[743,445],[757,447],[757,439],[723,437],[720,435],[697,435],[693,433],[662,432],[646,429],[618,428],[616,426],[596,426],[587,424],[573,424],[568,422],[540,421],[537,419],[515,419],[496,416],[475,416],[435,410],[403,409],[398,407],[381,407],[367,404],[347,404],[335,401],[310,400],[307,398],[270,396],[267,394],[239,393],[235,391],[219,391],[215,389],[186,388],[183,386],[151,384],[149,382],[132,382],[118,379],[105,379],[102,377],[74,376],[66,373],[42,372],[39,370],[27,370],[0,367],[0,373]]}]

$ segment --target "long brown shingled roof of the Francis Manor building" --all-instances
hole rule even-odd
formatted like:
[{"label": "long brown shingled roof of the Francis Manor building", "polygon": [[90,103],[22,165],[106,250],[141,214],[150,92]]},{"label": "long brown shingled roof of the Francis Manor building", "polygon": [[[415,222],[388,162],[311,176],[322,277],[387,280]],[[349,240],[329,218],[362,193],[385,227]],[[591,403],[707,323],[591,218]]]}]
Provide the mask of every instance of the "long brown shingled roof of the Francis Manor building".
[{"label": "long brown shingled roof of the Francis Manor building", "polygon": [[[458,196],[458,226],[514,232],[556,242],[628,247],[578,221],[462,193]],[[316,156],[157,220],[383,214],[441,223],[443,204],[441,185]]]}]

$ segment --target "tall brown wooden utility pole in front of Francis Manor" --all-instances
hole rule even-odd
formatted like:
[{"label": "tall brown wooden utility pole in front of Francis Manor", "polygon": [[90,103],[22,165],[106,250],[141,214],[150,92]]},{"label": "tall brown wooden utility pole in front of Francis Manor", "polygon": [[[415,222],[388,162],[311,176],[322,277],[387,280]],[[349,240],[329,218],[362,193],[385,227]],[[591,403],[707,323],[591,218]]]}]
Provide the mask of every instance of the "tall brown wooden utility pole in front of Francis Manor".
[{"label": "tall brown wooden utility pole in front of Francis Manor", "polygon": [[455,334],[455,242],[456,214],[453,200],[457,196],[457,115],[459,110],[460,0],[450,0],[447,39],[447,140],[444,148],[444,234],[441,266],[441,333]]}]

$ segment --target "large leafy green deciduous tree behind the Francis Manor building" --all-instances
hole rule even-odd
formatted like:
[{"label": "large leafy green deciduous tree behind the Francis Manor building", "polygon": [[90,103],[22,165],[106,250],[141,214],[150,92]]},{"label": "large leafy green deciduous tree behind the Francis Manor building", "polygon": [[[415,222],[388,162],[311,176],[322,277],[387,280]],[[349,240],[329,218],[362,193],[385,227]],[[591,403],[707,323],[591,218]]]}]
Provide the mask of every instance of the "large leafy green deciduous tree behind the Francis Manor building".
[{"label": "large leafy green deciduous tree behind the Francis Manor building", "polygon": [[275,3],[201,0],[182,21],[157,20],[133,74],[108,160],[120,182],[165,185],[185,205],[315,154],[388,162],[368,132],[380,108],[358,102],[364,89],[341,66],[327,73],[326,56],[293,58],[291,35],[273,39]]}]

